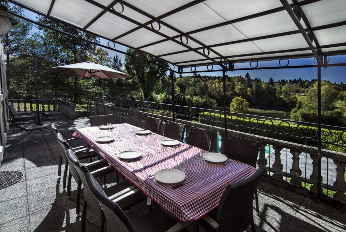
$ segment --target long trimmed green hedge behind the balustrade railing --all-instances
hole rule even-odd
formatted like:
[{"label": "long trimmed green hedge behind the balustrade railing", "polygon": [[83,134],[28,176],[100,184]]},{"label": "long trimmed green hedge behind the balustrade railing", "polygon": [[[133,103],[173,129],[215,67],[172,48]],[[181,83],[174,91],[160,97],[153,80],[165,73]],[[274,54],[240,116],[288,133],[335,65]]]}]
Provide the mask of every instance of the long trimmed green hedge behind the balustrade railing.
[{"label": "long trimmed green hedge behind the balustrade railing", "polygon": [[[209,124],[209,125],[214,125],[218,127],[224,127],[224,115],[220,114],[215,114],[215,113],[210,113],[210,112],[204,112],[199,115],[199,122],[204,123],[204,124]],[[299,144],[305,144],[305,139],[304,138],[294,138],[291,137],[290,135],[282,135],[282,134],[277,134],[275,132],[283,133],[285,132],[286,134],[293,134],[296,136],[305,136],[305,137],[313,137],[314,135],[317,134],[317,127],[309,127],[309,130],[307,126],[298,126],[295,124],[290,124],[282,121],[269,121],[269,120],[262,120],[258,119],[258,121],[254,118],[241,118],[237,119],[236,116],[227,116],[227,121],[228,121],[228,129],[231,130],[236,130],[240,132],[245,132],[245,133],[251,133],[254,135],[260,135],[264,137],[269,137],[273,139],[279,139],[279,140],[284,140],[288,142],[294,142],[294,143],[299,143]],[[281,123],[281,126],[280,126]],[[258,129],[263,129],[266,131],[258,130],[255,128],[247,128],[243,126],[245,125],[247,127],[254,126]],[[267,131],[267,129],[273,131]],[[335,141],[339,138],[341,135],[342,131],[339,130],[329,130],[322,128],[322,139],[328,140],[328,141]],[[346,141],[346,133],[343,135],[344,141]],[[316,137],[317,139],[317,137]],[[338,141],[336,144],[340,145],[346,145],[343,141]],[[307,140],[307,145],[310,146],[317,146],[317,142],[315,141],[309,141]],[[338,145],[333,145],[333,144],[322,144],[322,148],[328,149],[331,151],[337,151],[337,152],[342,152],[346,153],[346,147],[338,146]]]}]

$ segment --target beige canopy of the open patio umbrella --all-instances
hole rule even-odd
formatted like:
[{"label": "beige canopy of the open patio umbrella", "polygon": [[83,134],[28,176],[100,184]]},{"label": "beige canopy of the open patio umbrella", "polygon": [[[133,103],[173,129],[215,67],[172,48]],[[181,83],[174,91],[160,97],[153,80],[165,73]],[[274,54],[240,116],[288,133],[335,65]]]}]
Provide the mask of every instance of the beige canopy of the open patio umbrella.
[{"label": "beige canopy of the open patio umbrella", "polygon": [[101,64],[96,64],[90,61],[57,66],[52,68],[45,68],[43,70],[47,70],[48,72],[51,72],[51,73],[58,73],[63,75],[98,77],[98,78],[106,78],[106,79],[128,77],[126,73],[123,73],[115,69],[103,66]]}]

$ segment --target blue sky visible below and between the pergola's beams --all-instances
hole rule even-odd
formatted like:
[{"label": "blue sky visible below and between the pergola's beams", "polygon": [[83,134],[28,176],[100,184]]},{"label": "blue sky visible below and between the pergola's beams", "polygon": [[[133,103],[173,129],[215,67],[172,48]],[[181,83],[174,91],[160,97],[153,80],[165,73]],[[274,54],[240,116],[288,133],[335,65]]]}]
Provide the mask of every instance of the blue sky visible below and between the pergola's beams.
[{"label": "blue sky visible below and between the pergola's beams", "polygon": [[[34,19],[37,14],[32,13],[28,10],[24,10],[24,15],[28,18]],[[107,45],[108,40],[101,39],[101,43]],[[126,47],[120,44],[116,44],[115,48],[117,50],[125,51]],[[109,49],[105,49],[109,52],[110,56],[119,55],[122,62],[124,62],[124,55]],[[342,56],[332,56],[330,58],[330,63],[342,63],[346,62],[346,55]],[[289,65],[309,65],[314,64],[312,58],[304,58],[304,59],[290,59]],[[278,61],[263,61],[259,62],[258,67],[266,67],[266,66],[279,66]],[[235,68],[246,68],[250,67],[249,63],[239,63],[234,65]],[[214,69],[218,69],[217,66]],[[206,70],[206,67],[198,67],[197,70]],[[190,69],[185,69],[185,71],[190,71]],[[252,78],[257,77],[264,81],[268,80],[272,77],[274,80],[281,79],[294,79],[294,78],[302,78],[302,79],[313,79],[317,78],[317,68],[288,68],[288,69],[269,69],[269,70],[244,70],[244,71],[228,71],[227,75],[236,76],[241,75],[245,76],[246,72],[250,74]],[[201,73],[204,75],[222,75],[222,72],[205,72]],[[189,75],[189,74],[187,74]],[[346,66],[339,67],[328,67],[326,69],[322,69],[322,79],[330,80],[331,82],[340,83],[343,81],[346,83]]]}]

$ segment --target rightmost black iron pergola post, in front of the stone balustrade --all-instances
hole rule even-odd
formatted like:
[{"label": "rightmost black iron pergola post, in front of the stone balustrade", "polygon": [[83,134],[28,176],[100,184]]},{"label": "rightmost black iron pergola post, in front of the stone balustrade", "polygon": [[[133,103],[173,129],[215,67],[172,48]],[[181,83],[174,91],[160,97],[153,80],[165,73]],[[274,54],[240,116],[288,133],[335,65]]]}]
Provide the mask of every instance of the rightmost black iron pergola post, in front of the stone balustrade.
[{"label": "rightmost black iron pergola post, in front of the stone balustrade", "polygon": [[321,61],[317,66],[317,105],[318,105],[318,199],[322,200],[322,96],[321,96]]}]

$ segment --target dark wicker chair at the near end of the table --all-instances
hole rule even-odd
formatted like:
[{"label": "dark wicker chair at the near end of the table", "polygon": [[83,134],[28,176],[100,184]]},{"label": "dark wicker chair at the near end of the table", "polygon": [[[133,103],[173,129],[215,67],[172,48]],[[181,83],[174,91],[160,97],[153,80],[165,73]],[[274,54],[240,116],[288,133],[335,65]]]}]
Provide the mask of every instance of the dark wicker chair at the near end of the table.
[{"label": "dark wicker chair at the near end of the table", "polygon": [[229,184],[216,211],[200,220],[202,227],[207,231],[239,232],[250,226],[252,232],[256,232],[252,198],[264,172],[264,168],[259,168],[249,178]]}]

